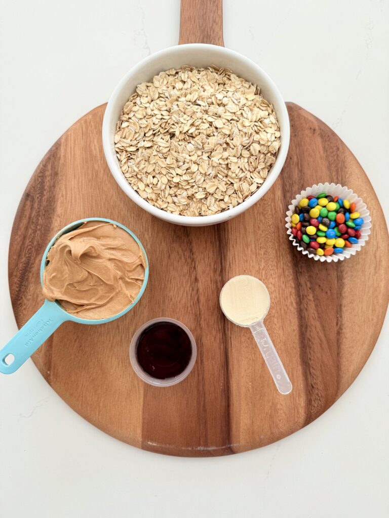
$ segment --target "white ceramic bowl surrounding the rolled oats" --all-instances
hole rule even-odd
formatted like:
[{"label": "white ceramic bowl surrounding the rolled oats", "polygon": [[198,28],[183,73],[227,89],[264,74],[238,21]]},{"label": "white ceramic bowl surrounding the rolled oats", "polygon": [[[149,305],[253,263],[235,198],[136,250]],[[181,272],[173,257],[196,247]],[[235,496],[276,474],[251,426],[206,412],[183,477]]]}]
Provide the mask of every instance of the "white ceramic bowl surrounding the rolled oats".
[{"label": "white ceramic bowl surrounding the rolled oats", "polygon": [[[211,216],[183,216],[175,215],[158,209],[149,204],[137,194],[137,192],[127,182],[120,169],[119,161],[115,153],[114,135],[116,123],[120,113],[128,98],[135,92],[138,84],[150,81],[155,75],[163,70],[179,68],[183,65],[197,67],[207,67],[215,65],[217,67],[228,67],[235,74],[243,77],[247,81],[256,83],[263,97],[274,106],[279,119],[281,130],[281,147],[276,157],[273,167],[270,169],[268,177],[260,188],[243,203]],[[246,209],[254,205],[263,195],[265,195],[275,182],[277,176],[284,165],[289,147],[289,117],[285,102],[270,77],[253,61],[241,54],[224,47],[204,44],[178,45],[161,50],[146,57],[145,60],[135,65],[119,82],[113,94],[110,96],[103,121],[103,147],[108,167],[114,175],[120,188],[129,196],[133,202],[143,209],[155,215],[157,218],[187,226],[214,225],[234,218]]]}]

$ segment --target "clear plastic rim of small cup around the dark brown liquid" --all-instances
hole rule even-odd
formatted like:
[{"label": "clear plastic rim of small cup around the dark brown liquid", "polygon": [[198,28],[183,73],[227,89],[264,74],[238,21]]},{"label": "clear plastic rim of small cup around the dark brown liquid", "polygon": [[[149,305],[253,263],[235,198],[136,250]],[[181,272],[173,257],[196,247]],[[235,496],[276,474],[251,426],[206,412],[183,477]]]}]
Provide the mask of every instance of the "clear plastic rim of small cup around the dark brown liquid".
[{"label": "clear plastic rim of small cup around the dark brown liquid", "polygon": [[[188,365],[185,367],[185,369],[178,375],[174,376],[173,378],[165,378],[165,379],[159,379],[159,378],[153,378],[150,376],[147,372],[145,372],[141,365],[138,362],[138,359],[136,357],[136,347],[138,344],[138,339],[143,333],[147,327],[151,326],[152,324],[157,324],[158,322],[169,322],[171,324],[176,324],[182,329],[184,329],[185,333],[188,335],[190,344],[192,347],[192,355],[190,357]],[[197,348],[196,348],[196,342],[195,338],[193,338],[192,333],[189,331],[189,329],[184,325],[182,322],[178,322],[178,320],[173,320],[169,318],[158,318],[158,319],[152,319],[148,322],[145,322],[140,328],[138,328],[132,337],[131,344],[130,344],[130,362],[132,365],[132,368],[136,372],[136,374],[141,378],[141,380],[145,381],[149,385],[155,386],[155,387],[170,387],[172,385],[176,385],[180,381],[185,380],[185,378],[189,375],[190,371],[193,369],[193,366],[196,362],[196,355],[197,355]]]}]

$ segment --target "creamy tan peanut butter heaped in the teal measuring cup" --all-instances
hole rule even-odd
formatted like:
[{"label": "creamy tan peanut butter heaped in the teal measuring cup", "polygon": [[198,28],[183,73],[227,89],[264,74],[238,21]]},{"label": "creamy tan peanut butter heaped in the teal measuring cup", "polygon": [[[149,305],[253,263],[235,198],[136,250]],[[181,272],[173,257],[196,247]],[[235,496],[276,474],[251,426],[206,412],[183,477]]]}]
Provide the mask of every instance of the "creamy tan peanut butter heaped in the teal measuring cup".
[{"label": "creamy tan peanut butter heaped in the teal measuring cup", "polygon": [[88,221],[62,235],[47,254],[43,294],[85,319],[114,316],[141,290],[146,259],[121,227]]}]

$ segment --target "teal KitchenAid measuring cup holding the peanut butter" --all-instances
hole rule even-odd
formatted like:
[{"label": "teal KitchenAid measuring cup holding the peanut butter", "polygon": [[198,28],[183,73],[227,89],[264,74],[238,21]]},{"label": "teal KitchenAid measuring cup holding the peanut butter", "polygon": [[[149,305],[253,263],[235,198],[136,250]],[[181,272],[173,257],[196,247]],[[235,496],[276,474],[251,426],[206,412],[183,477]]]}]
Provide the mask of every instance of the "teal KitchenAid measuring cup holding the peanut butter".
[{"label": "teal KitchenAid measuring cup holding the peanut butter", "polygon": [[11,374],[19,369],[21,365],[26,361],[26,359],[30,358],[30,356],[43,344],[49,336],[51,336],[55,329],[57,329],[63,322],[67,320],[71,320],[72,322],[78,322],[79,324],[104,324],[106,322],[111,322],[112,320],[118,319],[120,316],[124,315],[130,309],[132,309],[135,304],[138,303],[140,298],[142,297],[147,281],[148,281],[148,260],[146,252],[142,246],[141,241],[124,225],[121,225],[117,221],[108,220],[106,218],[85,218],[83,220],[74,221],[69,225],[66,225],[62,228],[49,242],[45,253],[42,257],[42,262],[40,264],[40,283],[43,285],[43,272],[46,267],[46,257],[53,246],[54,242],[57,241],[59,237],[63,234],[67,234],[82,225],[87,221],[104,221],[106,223],[113,223],[114,225],[119,226],[126,232],[132,236],[138,245],[141,247],[141,250],[145,256],[146,260],[146,270],[145,270],[145,278],[141,287],[141,291],[138,293],[137,297],[126,309],[121,311],[120,313],[110,316],[108,319],[81,319],[79,316],[72,315],[65,311],[62,306],[57,301],[45,300],[43,306],[38,309],[38,311],[31,317],[31,319],[24,324],[18,331],[18,333],[10,339],[6,346],[0,350],[0,372],[4,374]]}]

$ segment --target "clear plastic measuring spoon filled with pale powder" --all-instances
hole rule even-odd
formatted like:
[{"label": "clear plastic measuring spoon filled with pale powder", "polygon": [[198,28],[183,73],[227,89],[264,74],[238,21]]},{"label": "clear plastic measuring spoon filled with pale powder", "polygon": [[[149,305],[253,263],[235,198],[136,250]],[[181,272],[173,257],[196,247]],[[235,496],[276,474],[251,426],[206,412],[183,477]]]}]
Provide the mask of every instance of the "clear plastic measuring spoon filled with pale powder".
[{"label": "clear plastic measuring spoon filled with pale powder", "polygon": [[228,320],[251,329],[277,390],[281,394],[289,394],[292,385],[263,324],[270,308],[270,295],[265,284],[249,275],[232,277],[221,289],[219,302]]}]

